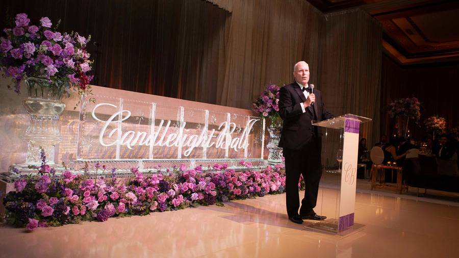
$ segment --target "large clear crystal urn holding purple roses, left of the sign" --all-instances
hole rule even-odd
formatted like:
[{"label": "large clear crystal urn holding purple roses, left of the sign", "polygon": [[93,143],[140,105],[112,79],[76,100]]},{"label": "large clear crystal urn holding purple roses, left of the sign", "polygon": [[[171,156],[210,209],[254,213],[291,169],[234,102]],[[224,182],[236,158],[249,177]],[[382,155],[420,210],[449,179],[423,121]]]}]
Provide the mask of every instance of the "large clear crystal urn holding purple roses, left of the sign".
[{"label": "large clear crystal urn holding purple roses, left of the sign", "polygon": [[59,132],[59,115],[65,104],[60,101],[65,87],[43,78],[25,79],[29,97],[22,101],[30,115],[30,125],[22,135],[27,142],[25,165],[41,165],[41,149],[46,154],[46,162],[54,163],[55,146],[62,140]]}]

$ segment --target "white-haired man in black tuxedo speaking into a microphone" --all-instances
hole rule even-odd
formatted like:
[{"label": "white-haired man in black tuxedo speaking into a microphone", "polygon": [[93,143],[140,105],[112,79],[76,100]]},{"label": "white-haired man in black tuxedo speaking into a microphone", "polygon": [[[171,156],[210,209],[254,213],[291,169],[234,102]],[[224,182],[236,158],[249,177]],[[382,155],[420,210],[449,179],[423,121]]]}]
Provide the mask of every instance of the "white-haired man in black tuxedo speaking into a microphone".
[{"label": "white-haired man in black tuxedo speaking into a microphone", "polygon": [[[321,132],[312,121],[332,118],[326,111],[322,93],[309,87],[309,65],[298,62],[293,67],[295,82],[281,88],[279,115],[284,120],[279,147],[283,148],[286,170],[287,215],[292,222],[301,224],[303,219],[324,220],[317,215],[316,207],[319,180]],[[306,189],[299,209],[298,181],[303,175]]]}]

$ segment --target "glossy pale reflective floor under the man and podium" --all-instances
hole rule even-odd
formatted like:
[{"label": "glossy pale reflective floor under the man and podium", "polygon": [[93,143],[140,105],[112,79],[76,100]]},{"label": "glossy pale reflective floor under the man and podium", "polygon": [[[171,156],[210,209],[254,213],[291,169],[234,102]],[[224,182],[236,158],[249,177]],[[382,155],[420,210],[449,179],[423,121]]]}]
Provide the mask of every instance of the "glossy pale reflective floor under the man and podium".
[{"label": "glossy pale reflective floor under the man and podium", "polygon": [[[316,212],[334,217],[336,196],[321,188]],[[0,227],[0,257],[459,257],[459,203],[400,197],[357,193],[364,226],[346,236],[290,222],[281,194],[33,233]]]}]

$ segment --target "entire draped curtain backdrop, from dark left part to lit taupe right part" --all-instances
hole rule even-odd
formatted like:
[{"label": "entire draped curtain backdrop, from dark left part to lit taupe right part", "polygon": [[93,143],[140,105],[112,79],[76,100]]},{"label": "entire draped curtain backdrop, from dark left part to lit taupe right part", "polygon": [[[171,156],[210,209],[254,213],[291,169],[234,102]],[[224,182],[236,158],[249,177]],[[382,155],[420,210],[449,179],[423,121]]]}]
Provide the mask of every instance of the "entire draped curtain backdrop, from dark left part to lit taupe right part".
[{"label": "entire draped curtain backdrop, from dark left part to lit taupe right part", "polygon": [[61,18],[60,31],[91,34],[99,86],[250,109],[266,84],[293,82],[304,60],[329,111],[373,118],[362,135],[378,137],[381,28],[363,11],[324,15],[305,0],[0,4],[13,17]]}]

